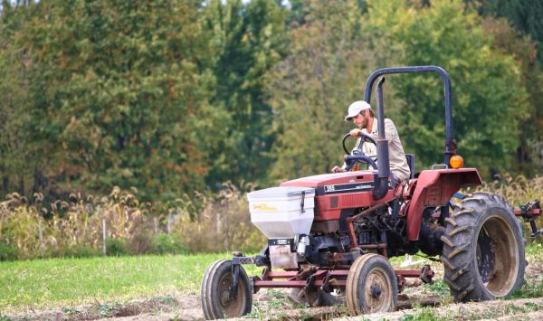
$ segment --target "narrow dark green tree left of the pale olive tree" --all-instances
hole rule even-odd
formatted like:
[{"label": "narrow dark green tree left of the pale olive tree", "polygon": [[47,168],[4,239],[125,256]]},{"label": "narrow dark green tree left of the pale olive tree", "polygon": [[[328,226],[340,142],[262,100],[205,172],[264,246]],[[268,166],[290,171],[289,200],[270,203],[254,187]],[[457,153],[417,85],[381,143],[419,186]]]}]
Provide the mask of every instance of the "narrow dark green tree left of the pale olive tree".
[{"label": "narrow dark green tree left of the pale olive tree", "polygon": [[213,166],[208,184],[238,184],[267,174],[272,114],[265,78],[285,55],[285,9],[274,0],[213,0],[203,10],[203,25],[212,33],[208,61],[216,82],[211,103],[226,111],[214,132]]}]

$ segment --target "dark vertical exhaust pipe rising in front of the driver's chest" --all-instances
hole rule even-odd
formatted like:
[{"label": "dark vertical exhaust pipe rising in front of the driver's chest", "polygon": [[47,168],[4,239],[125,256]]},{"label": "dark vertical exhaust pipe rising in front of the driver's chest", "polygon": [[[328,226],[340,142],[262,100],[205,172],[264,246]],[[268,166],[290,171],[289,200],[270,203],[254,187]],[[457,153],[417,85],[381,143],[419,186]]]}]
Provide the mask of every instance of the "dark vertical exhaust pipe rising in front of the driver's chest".
[{"label": "dark vertical exhaust pipe rising in front of the driver's chest", "polygon": [[380,200],[388,191],[388,177],[390,176],[390,160],[388,159],[388,141],[385,135],[385,111],[383,109],[383,83],[385,77],[377,81],[377,175],[374,179],[374,199]]}]

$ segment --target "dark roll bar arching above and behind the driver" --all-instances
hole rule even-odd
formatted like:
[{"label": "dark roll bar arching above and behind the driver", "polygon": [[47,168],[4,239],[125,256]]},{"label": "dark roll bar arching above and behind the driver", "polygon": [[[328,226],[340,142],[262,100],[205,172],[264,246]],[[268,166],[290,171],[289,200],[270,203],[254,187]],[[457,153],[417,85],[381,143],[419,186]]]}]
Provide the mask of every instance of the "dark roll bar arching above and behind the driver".
[{"label": "dark roll bar arching above and behind the driver", "polygon": [[[445,100],[445,152],[444,152],[444,161],[445,165],[449,165],[449,159],[451,156],[456,154],[456,143],[454,142],[454,137],[452,137],[452,90],[451,90],[451,78],[447,71],[441,67],[437,66],[413,66],[413,67],[391,67],[391,68],[382,68],[377,71],[374,71],[366,81],[366,87],[364,89],[364,100],[367,103],[370,103],[371,100],[371,90],[373,89],[373,84],[375,80],[382,75],[391,74],[391,73],[406,73],[406,72],[428,72],[434,71],[439,73],[443,79],[443,90],[444,90],[444,100]],[[383,114],[382,114],[383,115]],[[381,118],[384,118],[382,116]],[[377,128],[379,133],[384,132],[385,127],[384,123],[378,121]]]}]

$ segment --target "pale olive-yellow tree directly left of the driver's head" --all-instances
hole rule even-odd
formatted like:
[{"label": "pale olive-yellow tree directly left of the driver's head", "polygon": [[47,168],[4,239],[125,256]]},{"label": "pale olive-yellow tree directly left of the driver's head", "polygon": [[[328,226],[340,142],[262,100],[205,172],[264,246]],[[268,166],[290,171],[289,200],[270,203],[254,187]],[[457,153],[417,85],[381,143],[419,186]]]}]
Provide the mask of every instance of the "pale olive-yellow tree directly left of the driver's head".
[{"label": "pale olive-yellow tree directly left of the driver's head", "polygon": [[270,76],[277,132],[272,178],[326,173],[341,161],[341,131],[349,129],[343,116],[363,95],[371,57],[356,1],[304,5],[305,24],[291,30],[289,56]]}]

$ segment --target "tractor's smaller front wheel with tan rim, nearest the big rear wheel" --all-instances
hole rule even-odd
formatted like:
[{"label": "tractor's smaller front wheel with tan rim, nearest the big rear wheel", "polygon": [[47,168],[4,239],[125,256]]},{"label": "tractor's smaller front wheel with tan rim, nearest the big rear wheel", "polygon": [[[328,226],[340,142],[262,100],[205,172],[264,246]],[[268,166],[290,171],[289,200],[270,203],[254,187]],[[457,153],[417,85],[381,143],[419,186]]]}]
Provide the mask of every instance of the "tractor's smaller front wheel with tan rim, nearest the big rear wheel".
[{"label": "tractor's smaller front wheel with tan rim, nearest the big rear wheel", "polygon": [[398,301],[394,269],[381,255],[363,255],[348,270],[345,292],[351,316],[394,311]]}]

